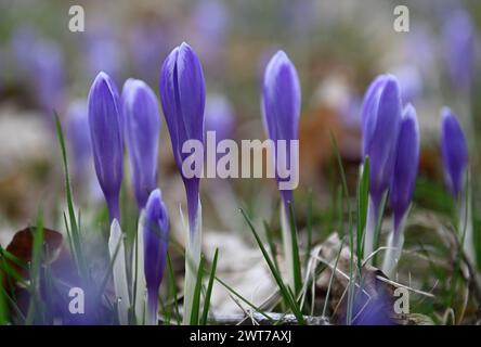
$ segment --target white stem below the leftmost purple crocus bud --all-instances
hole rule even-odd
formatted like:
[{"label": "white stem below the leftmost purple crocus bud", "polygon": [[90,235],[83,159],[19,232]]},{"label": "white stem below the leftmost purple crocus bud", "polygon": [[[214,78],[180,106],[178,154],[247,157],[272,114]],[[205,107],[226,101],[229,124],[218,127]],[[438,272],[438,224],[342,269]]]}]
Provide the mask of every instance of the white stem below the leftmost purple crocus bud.
[{"label": "white stem below the leftmost purple crocus bud", "polygon": [[114,262],[113,277],[115,297],[117,299],[118,321],[121,325],[129,323],[129,287],[127,284],[126,249],[123,246],[122,231],[117,219],[110,226],[110,237],[108,239],[108,250]]}]

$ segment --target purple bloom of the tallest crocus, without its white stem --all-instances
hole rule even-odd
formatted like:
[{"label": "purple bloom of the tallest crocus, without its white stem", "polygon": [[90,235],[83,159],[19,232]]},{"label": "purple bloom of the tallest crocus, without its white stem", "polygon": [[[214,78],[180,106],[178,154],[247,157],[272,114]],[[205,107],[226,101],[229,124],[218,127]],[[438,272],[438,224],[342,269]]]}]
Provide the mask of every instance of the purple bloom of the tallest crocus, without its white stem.
[{"label": "purple bloom of the tallest crocus, without its white stem", "polygon": [[199,177],[185,177],[182,163],[190,154],[182,153],[182,145],[187,140],[204,143],[206,90],[200,62],[185,42],[174,48],[164,62],[160,73],[160,101],[170,132],[173,157],[187,194],[192,233],[198,209]]}]

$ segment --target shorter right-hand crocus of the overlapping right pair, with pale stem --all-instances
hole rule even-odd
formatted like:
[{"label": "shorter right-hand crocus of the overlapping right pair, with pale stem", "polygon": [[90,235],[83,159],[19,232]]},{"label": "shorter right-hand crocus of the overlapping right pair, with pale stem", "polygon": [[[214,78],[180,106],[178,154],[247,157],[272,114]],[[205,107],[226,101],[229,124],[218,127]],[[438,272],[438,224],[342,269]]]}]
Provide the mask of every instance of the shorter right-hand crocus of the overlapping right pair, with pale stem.
[{"label": "shorter right-hand crocus of the overlapping right pair, with pale stem", "polygon": [[394,174],[391,183],[391,206],[394,226],[389,235],[382,271],[388,275],[392,272],[401,257],[404,244],[404,219],[411,205],[419,164],[419,126],[416,110],[412,104],[404,107],[398,137]]}]

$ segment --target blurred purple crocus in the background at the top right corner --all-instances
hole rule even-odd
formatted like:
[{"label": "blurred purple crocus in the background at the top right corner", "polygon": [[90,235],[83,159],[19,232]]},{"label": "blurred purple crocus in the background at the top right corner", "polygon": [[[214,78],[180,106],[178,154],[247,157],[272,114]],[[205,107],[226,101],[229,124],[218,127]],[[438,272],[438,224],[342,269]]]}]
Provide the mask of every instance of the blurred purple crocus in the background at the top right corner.
[{"label": "blurred purple crocus in the background at the top right corner", "polygon": [[443,25],[444,54],[455,87],[469,88],[474,63],[474,25],[463,9],[446,14]]}]

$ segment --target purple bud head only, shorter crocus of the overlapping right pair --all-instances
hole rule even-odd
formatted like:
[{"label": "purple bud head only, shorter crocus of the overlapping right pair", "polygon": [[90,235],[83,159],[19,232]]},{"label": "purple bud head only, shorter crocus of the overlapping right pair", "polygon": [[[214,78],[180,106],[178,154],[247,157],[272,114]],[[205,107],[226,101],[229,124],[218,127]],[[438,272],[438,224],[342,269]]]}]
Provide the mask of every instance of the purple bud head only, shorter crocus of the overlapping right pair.
[{"label": "purple bud head only, shorter crocus of the overlapping right pair", "polygon": [[394,174],[391,183],[391,206],[394,213],[394,232],[406,213],[416,182],[419,164],[419,126],[412,104],[404,107],[398,137]]}]

